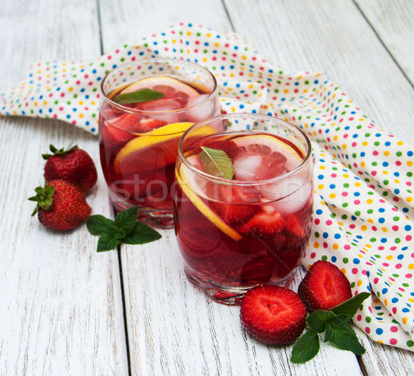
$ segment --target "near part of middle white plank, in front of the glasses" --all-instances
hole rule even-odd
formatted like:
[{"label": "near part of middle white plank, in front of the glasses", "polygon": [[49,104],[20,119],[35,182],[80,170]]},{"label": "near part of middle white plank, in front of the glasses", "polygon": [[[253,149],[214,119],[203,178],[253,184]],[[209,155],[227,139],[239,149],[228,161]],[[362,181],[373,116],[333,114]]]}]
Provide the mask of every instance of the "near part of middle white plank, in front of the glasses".
[{"label": "near part of middle white plank, in front of the glasses", "polygon": [[[265,346],[240,326],[239,307],[211,302],[184,275],[172,231],[142,247],[123,247],[133,375],[360,375],[355,356],[322,344],[302,365],[291,346]],[[297,281],[302,280],[303,271]]]}]

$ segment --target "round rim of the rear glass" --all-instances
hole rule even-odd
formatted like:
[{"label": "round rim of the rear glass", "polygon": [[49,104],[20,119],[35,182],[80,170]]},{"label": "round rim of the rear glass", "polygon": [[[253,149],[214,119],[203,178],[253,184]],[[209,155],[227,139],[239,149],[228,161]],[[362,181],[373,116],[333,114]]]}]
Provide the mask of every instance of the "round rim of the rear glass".
[{"label": "round rim of the rear glass", "polygon": [[[131,108],[128,107],[126,105],[121,105],[120,103],[117,103],[115,101],[112,101],[111,98],[108,97],[108,95],[104,92],[103,90],[103,85],[105,84],[106,80],[108,79],[109,75],[114,72],[115,70],[121,68],[121,67],[126,67],[127,65],[130,65],[131,63],[122,63],[117,65],[117,67],[113,68],[112,70],[110,70],[110,72],[108,72],[104,77],[103,80],[101,81],[101,85],[100,85],[100,89],[101,89],[101,95],[103,96],[103,100],[108,102],[110,105],[112,105],[113,107],[116,107],[118,109],[121,109],[122,111],[129,113],[129,114],[141,114],[141,115],[162,115],[162,114],[180,114],[181,112],[185,112],[188,111],[189,109],[193,109],[196,108],[198,106],[204,105],[204,103],[206,103],[207,101],[209,101],[211,98],[213,98],[216,94],[217,94],[217,90],[218,90],[218,84],[217,84],[217,79],[215,78],[215,75],[210,72],[210,70],[208,70],[206,67],[204,67],[203,65],[199,65],[197,63],[193,63],[192,61],[184,61],[181,59],[174,59],[174,58],[142,58],[136,61],[133,61],[132,64],[134,65],[138,65],[140,63],[143,62],[148,62],[148,61],[162,61],[164,63],[168,62],[168,61],[179,61],[179,62],[184,62],[186,64],[189,65],[194,65],[196,67],[201,68],[201,70],[204,70],[208,73],[208,75],[210,76],[211,79],[213,79],[213,90],[207,94],[206,98],[204,98],[201,102],[199,103],[195,103],[194,105],[190,105],[188,107],[183,107],[183,108],[179,108],[179,109],[172,109],[171,111],[148,111],[145,109],[135,109],[135,108]],[[116,125],[113,125],[114,127],[116,127]],[[176,133],[181,133],[181,132],[173,132],[173,133],[168,133],[168,134],[176,134]],[[145,133],[143,133],[145,134]],[[165,134],[166,135],[166,134]],[[161,135],[157,135],[157,136],[161,136]]]}]

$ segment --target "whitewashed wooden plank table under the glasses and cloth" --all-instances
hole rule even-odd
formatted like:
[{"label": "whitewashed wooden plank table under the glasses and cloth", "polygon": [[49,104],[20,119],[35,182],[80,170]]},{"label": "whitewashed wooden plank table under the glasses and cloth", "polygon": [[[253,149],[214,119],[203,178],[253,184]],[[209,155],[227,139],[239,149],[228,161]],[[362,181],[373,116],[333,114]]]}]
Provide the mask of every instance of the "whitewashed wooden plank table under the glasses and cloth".
[{"label": "whitewashed wooden plank table under the glasses and cloth", "polygon": [[[92,59],[179,21],[235,30],[284,68],[326,70],[377,123],[414,143],[410,0],[3,0],[0,87],[36,61]],[[255,342],[238,307],[185,278],[173,231],[96,253],[83,226],[48,231],[27,198],[49,143],[75,140],[99,167],[97,139],[72,125],[0,118],[1,375],[414,375],[414,354],[358,333],[362,357],[322,345],[307,364]],[[103,176],[88,196],[112,215]],[[297,278],[299,279],[299,278]],[[294,285],[294,288],[297,286]]]}]

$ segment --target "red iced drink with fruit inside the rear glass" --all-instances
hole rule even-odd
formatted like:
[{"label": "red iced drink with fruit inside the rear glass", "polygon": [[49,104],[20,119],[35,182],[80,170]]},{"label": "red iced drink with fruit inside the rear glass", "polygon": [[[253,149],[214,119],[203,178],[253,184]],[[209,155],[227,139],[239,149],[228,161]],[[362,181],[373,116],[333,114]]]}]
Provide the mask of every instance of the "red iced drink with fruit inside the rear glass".
[{"label": "red iced drink with fruit inside the rear glass", "polygon": [[[170,76],[150,76],[119,94],[150,89],[164,94],[155,101],[126,103],[142,112],[127,112],[103,101],[99,114],[99,152],[103,175],[115,207],[131,205],[172,211],[170,187],[174,180],[179,137],[190,125],[219,111],[217,98],[208,90],[193,87]],[[201,103],[198,106],[191,107]],[[188,108],[190,107],[190,108]]]}]

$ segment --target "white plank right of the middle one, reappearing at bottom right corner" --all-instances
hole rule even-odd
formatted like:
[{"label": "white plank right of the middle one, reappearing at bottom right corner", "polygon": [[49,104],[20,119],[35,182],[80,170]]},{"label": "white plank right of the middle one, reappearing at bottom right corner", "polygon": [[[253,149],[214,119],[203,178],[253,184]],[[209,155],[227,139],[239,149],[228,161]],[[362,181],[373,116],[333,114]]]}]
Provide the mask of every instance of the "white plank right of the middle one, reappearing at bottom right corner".
[{"label": "white plank right of the middle one, reappearing at bottom right corner", "polygon": [[[411,85],[351,1],[225,3],[235,30],[250,30],[248,40],[284,71],[326,71],[380,127],[414,143]],[[413,353],[357,333],[366,344],[368,374],[410,372]]]}]

